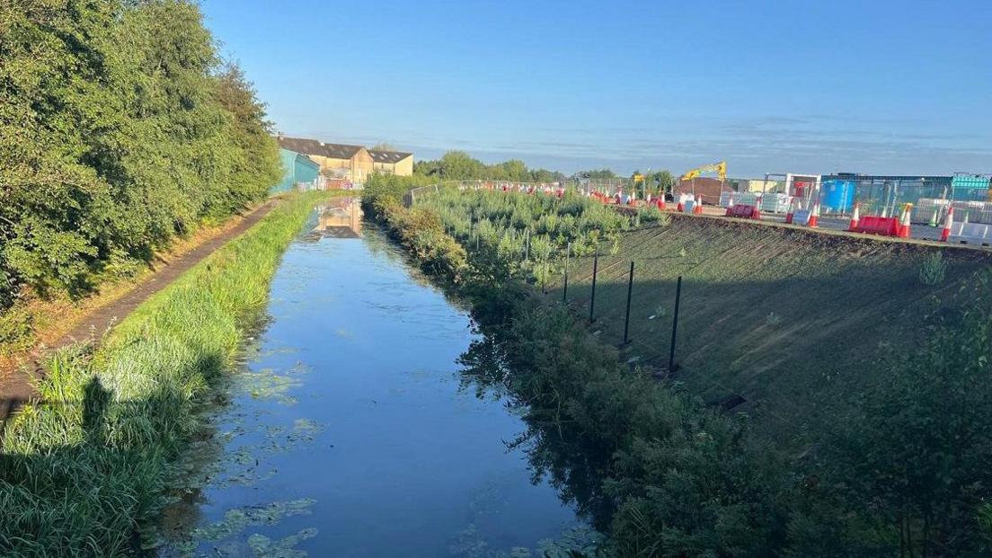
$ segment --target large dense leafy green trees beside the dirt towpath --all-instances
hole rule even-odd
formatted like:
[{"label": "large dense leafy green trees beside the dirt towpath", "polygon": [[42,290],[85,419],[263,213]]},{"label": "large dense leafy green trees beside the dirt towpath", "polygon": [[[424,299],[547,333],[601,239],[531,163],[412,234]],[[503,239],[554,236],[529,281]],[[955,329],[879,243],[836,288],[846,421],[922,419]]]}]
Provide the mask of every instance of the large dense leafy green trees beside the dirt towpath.
[{"label": "large dense leafy green trees beside the dirt towpath", "polygon": [[279,175],[195,2],[0,3],[0,310],[83,294]]}]

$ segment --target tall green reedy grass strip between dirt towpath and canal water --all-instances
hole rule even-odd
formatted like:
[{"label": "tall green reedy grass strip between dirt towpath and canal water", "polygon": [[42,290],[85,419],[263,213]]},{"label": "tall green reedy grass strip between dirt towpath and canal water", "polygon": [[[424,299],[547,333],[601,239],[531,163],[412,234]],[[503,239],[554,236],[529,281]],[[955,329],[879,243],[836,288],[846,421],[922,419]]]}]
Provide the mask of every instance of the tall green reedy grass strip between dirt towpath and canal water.
[{"label": "tall green reedy grass strip between dirt towpath and canal water", "polygon": [[44,402],[9,421],[0,456],[5,556],[115,556],[141,543],[190,412],[264,308],[286,246],[322,194],[284,201],[143,304],[95,352],[66,349]]}]

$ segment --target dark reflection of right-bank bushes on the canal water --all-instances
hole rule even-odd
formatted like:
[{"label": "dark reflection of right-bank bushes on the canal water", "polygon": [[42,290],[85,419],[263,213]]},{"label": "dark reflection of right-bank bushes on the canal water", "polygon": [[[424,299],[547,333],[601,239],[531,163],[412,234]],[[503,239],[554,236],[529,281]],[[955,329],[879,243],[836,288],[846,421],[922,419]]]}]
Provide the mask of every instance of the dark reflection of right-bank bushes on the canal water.
[{"label": "dark reflection of right-bank bushes on the canal water", "polygon": [[527,425],[527,430],[507,445],[527,456],[532,482],[538,484],[547,478],[561,501],[575,504],[580,518],[597,530],[607,530],[614,509],[602,491],[609,473],[609,450],[583,435],[574,422],[531,408],[515,389],[521,375],[513,373],[504,350],[491,337],[472,342],[458,362],[462,365],[462,389],[474,389],[479,399],[503,399]]}]

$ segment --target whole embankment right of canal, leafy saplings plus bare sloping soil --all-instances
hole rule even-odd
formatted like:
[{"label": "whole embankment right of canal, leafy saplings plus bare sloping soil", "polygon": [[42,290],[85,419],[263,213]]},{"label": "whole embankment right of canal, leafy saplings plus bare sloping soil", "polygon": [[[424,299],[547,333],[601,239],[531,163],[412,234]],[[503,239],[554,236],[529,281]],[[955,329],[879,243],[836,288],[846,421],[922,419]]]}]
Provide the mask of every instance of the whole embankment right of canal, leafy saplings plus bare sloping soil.
[{"label": "whole embankment right of canal, leafy saplings plus bare sloping soil", "polygon": [[887,352],[919,345],[928,332],[925,317],[992,264],[992,254],[974,250],[657,209],[621,215],[573,194],[558,200],[449,189],[421,197],[417,209],[433,211],[477,268],[505,266],[546,290],[549,301],[562,299],[570,246],[567,299],[577,316],[589,313],[591,256],[598,251],[591,329],[609,345],[623,341],[634,261],[631,343],[621,348],[632,364],[668,367],[682,276],[673,379],[710,403],[743,398],[734,410],[782,438],[828,420],[873,379]]}]

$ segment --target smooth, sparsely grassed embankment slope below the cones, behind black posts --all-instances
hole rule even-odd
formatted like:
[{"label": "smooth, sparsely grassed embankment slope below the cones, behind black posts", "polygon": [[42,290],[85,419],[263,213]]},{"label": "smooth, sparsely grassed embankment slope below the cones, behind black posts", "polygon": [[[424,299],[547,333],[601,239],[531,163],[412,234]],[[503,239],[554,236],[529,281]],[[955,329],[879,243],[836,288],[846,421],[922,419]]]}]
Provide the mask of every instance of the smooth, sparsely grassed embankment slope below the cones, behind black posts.
[{"label": "smooth, sparsely grassed embankment slope below the cones, behind black posts", "polygon": [[[945,277],[926,285],[920,270],[934,251]],[[674,377],[707,401],[794,433],[838,412],[886,351],[925,336],[934,310],[966,304],[957,293],[992,265],[992,253],[673,215],[668,226],[623,233],[619,251],[600,256],[593,330],[610,343],[623,338],[631,260],[625,356],[667,366],[682,276]],[[567,294],[577,312],[588,313],[591,274],[592,258],[571,262]],[[560,286],[548,296],[560,300]]]}]

